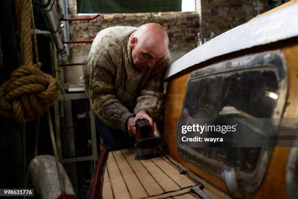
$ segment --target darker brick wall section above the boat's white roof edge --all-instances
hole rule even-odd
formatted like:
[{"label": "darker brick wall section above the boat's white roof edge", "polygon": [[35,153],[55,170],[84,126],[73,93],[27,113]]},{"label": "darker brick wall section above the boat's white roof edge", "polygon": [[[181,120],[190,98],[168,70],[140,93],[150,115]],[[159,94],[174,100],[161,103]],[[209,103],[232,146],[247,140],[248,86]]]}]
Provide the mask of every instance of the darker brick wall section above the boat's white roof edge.
[{"label": "darker brick wall section above the boat's white roof edge", "polygon": [[[211,32],[218,36],[258,15],[257,0],[196,0],[196,7],[203,38],[209,38]],[[268,7],[268,0],[259,0],[260,14]]]}]

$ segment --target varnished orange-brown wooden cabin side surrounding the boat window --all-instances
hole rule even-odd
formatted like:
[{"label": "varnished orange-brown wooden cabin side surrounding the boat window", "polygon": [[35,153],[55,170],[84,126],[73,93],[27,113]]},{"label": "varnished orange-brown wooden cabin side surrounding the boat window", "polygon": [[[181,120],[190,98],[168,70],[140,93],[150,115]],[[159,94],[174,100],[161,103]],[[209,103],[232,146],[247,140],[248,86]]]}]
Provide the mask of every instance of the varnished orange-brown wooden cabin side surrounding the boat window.
[{"label": "varnished orange-brown wooden cabin side surrounding the boat window", "polygon": [[[268,44],[261,47],[254,47],[249,50],[237,52],[225,56],[226,59],[232,59],[235,57],[243,56],[251,53],[260,53],[270,50],[280,50],[284,53],[287,73],[288,73],[288,98],[283,112],[283,118],[298,118],[298,39],[293,38],[286,41],[279,41],[278,43]],[[217,62],[207,62],[208,65]],[[201,64],[200,66],[193,67],[192,70],[196,70],[199,67],[206,66]],[[222,179],[212,175],[203,168],[193,164],[189,160],[182,157],[176,146],[177,135],[177,119],[181,114],[183,105],[186,83],[189,73],[186,73],[180,77],[176,77],[168,82],[168,90],[165,100],[165,125],[163,133],[162,146],[167,153],[175,159],[177,162],[190,169],[200,178],[205,179],[218,190],[227,193],[224,182]],[[285,184],[285,172],[286,161],[288,157],[289,148],[274,148],[272,151],[271,159],[267,167],[267,171],[264,177],[261,187],[253,194],[245,194],[249,199],[283,199],[287,198],[286,184]]]}]

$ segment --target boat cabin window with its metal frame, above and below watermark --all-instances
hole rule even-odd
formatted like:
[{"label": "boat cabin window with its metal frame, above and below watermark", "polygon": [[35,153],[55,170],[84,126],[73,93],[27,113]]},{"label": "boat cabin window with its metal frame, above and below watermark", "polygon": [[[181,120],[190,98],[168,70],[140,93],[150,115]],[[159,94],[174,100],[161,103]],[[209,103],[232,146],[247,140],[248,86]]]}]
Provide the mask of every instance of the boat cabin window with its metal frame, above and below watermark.
[{"label": "boat cabin window with its metal frame, above and below watermark", "polygon": [[[201,118],[279,118],[286,98],[285,62],[279,52],[224,61],[190,74],[181,113]],[[179,140],[179,133],[178,139]],[[186,159],[224,178],[234,169],[240,189],[254,192],[269,162],[268,147],[189,147],[177,141]]]}]

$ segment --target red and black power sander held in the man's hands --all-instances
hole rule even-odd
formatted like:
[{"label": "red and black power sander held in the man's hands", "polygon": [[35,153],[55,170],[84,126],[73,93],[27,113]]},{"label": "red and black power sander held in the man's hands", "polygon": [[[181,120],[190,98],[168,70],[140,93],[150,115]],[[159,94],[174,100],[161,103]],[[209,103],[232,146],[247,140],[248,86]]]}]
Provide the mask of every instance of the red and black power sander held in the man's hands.
[{"label": "red and black power sander held in the man's hands", "polygon": [[157,151],[157,144],[161,138],[154,136],[154,128],[151,127],[147,119],[142,119],[135,124],[135,160],[151,159]]}]

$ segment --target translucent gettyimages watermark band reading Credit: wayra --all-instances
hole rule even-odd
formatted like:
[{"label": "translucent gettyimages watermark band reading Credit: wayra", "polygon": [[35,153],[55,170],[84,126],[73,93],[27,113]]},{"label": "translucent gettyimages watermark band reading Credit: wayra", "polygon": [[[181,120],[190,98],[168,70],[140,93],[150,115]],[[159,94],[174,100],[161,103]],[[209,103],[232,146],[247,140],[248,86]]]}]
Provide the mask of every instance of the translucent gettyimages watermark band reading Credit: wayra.
[{"label": "translucent gettyimages watermark band reading Credit: wayra", "polygon": [[177,142],[187,147],[298,147],[298,119],[178,119]]}]

